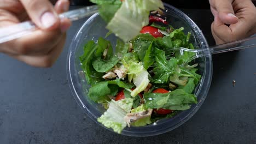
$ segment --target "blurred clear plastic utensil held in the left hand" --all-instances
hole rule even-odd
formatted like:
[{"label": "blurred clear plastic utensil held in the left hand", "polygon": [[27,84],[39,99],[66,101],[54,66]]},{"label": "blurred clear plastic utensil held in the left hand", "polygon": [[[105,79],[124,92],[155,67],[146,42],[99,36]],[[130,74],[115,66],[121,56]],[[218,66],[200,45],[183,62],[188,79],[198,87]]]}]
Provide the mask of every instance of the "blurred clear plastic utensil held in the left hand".
[{"label": "blurred clear plastic utensil held in the left hand", "polygon": [[[92,5],[89,7],[67,11],[66,13],[60,14],[59,17],[66,17],[71,21],[76,21],[95,14],[97,10],[97,5]],[[30,34],[36,29],[37,26],[32,21],[25,21],[17,25],[0,28],[0,44],[23,37],[24,35]]]}]

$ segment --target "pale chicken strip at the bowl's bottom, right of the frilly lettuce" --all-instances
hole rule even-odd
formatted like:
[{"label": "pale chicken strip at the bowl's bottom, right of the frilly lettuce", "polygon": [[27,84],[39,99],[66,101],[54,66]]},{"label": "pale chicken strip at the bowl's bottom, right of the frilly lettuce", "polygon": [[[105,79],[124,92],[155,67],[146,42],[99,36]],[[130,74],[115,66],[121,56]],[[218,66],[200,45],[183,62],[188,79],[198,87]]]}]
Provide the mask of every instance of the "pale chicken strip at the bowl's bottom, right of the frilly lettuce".
[{"label": "pale chicken strip at the bowl's bottom, right of the frilly lettuce", "polygon": [[125,116],[125,122],[127,123],[128,127],[131,126],[131,123],[136,122],[138,119],[151,116],[153,109],[148,109],[146,111],[137,112],[137,113],[127,113]]}]

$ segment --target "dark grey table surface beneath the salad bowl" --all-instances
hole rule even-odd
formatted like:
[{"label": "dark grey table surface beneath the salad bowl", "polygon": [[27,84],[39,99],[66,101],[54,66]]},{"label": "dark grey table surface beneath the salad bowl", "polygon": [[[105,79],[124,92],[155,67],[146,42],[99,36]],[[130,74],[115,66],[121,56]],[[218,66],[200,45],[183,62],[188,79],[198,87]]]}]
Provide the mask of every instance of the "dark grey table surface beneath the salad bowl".
[{"label": "dark grey table surface beneath the salad bowl", "polygon": [[[183,9],[213,39],[210,10]],[[256,49],[213,56],[210,91],[181,127],[152,137],[115,134],[97,125],[76,104],[66,76],[73,23],[56,64],[33,68],[0,55],[0,143],[256,143]],[[232,87],[232,81],[236,81]]]}]

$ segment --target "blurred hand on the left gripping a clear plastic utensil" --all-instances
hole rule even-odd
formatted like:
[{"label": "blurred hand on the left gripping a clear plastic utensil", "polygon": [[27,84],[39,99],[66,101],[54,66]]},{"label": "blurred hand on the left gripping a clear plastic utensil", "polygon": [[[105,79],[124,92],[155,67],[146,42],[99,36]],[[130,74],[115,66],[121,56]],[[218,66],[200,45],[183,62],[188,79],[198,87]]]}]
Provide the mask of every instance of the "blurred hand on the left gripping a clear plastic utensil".
[{"label": "blurred hand on the left gripping a clear plastic utensil", "polygon": [[32,20],[38,30],[25,37],[0,44],[0,52],[34,67],[51,67],[65,44],[68,19],[57,14],[67,11],[68,0],[59,0],[55,7],[49,0],[0,0],[0,28]]}]

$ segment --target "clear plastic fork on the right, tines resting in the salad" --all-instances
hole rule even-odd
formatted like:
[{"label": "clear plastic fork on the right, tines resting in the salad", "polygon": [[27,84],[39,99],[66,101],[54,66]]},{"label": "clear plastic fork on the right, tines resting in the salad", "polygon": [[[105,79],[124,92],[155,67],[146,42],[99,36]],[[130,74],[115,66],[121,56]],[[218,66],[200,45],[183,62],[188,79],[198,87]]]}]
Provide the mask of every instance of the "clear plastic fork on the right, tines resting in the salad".
[{"label": "clear plastic fork on the right, tines resting in the salad", "polygon": [[[253,42],[253,44],[243,44],[242,45],[242,43],[244,43],[244,42]],[[171,58],[173,56],[173,52],[179,52],[179,53],[181,53],[181,55],[183,55],[183,53],[185,51],[195,53],[195,55],[193,57],[191,57],[190,59],[188,59],[187,62],[184,62],[181,65],[179,65],[182,67],[182,66],[188,64],[190,61],[192,61],[196,58],[199,58],[199,57],[213,55],[216,53],[223,53],[223,52],[228,52],[228,51],[247,49],[247,48],[252,48],[252,47],[256,47],[256,36],[249,37],[249,38],[242,39],[242,40],[237,40],[237,41],[234,41],[231,43],[208,47],[207,49],[191,50],[191,49],[186,49],[184,47],[174,47],[174,48],[171,48],[170,50],[166,50],[165,52],[166,52],[167,59]]]}]

